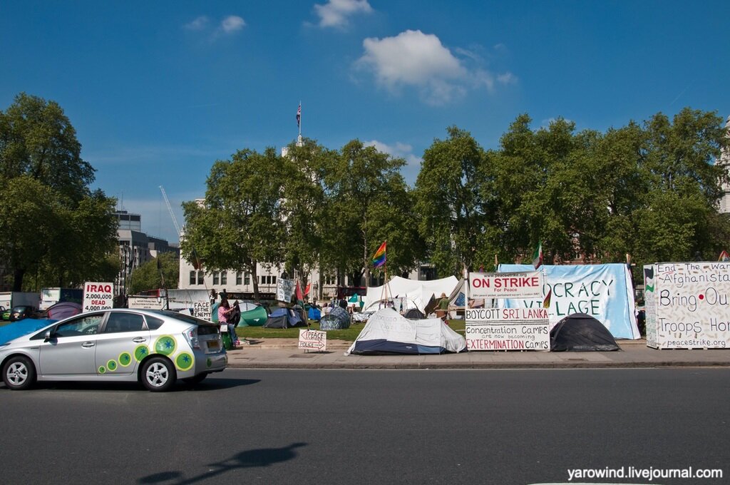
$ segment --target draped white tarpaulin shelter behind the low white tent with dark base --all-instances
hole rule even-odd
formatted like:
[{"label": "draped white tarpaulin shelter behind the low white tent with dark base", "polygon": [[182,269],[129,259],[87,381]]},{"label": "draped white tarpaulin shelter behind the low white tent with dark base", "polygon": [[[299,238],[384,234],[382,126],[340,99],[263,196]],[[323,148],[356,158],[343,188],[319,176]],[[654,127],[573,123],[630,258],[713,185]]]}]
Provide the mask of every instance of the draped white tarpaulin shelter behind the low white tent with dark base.
[{"label": "draped white tarpaulin shelter behind the low white tent with dark base", "polygon": [[387,291],[385,285],[368,287],[363,311],[377,310],[379,304],[384,302],[387,293],[388,301],[393,302],[394,308],[400,309],[402,304],[403,310],[418,308],[426,313],[426,305],[431,301],[431,297],[435,295],[438,298],[442,293],[450,295],[458,285],[458,280],[456,276],[429,281],[393,276],[386,284]]}]

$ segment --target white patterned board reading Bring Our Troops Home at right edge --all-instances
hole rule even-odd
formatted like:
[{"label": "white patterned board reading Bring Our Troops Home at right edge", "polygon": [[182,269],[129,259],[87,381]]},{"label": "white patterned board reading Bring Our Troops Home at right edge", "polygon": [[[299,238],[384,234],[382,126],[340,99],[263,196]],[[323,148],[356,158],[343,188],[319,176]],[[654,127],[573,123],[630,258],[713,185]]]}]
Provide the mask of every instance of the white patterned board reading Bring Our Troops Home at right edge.
[{"label": "white patterned board reading Bring Our Troops Home at right edge", "polygon": [[649,347],[730,347],[730,263],[650,264],[644,284]]}]

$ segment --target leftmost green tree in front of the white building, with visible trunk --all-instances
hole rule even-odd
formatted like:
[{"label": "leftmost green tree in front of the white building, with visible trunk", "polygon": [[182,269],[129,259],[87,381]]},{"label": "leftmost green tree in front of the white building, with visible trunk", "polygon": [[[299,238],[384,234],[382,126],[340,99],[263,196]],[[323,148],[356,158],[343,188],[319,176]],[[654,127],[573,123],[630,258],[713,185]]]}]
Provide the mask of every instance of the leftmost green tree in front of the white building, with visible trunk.
[{"label": "leftmost green tree in front of the white building, with visible trunk", "polygon": [[258,299],[257,264],[272,264],[284,256],[283,173],[283,160],[274,148],[264,153],[239,150],[230,161],[216,161],[204,202],[183,203],[183,257],[199,259],[207,271],[249,272]]}]

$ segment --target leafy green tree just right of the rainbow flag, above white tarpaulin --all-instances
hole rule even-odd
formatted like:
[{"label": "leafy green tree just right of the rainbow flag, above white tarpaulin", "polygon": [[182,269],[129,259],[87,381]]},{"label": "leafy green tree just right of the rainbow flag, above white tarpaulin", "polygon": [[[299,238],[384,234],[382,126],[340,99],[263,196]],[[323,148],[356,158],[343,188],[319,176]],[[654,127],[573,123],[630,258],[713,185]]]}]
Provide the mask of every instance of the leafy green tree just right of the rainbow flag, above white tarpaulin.
[{"label": "leafy green tree just right of the rainbow flag, above white tarpaulin", "polygon": [[416,180],[420,232],[440,275],[462,275],[494,247],[491,173],[474,137],[456,126],[434,140]]}]

